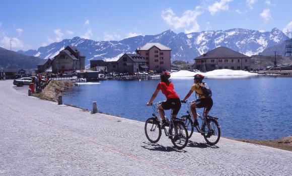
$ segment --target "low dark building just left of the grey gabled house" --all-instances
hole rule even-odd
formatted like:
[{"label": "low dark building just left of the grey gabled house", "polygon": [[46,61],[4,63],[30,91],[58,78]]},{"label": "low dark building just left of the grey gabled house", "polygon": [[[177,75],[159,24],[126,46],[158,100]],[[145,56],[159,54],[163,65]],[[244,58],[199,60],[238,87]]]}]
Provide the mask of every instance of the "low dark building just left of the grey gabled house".
[{"label": "low dark building just left of the grey gabled house", "polygon": [[106,72],[118,72],[117,61],[106,62],[103,60],[90,60],[90,68],[93,67],[95,67],[97,70],[105,69],[104,71]]}]

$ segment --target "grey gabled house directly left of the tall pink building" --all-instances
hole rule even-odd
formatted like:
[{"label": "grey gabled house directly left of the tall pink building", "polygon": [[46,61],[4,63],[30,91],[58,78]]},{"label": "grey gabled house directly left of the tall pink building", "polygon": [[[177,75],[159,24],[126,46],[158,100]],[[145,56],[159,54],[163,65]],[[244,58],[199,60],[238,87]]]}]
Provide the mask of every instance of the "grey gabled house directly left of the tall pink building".
[{"label": "grey gabled house directly left of the tall pink building", "polygon": [[118,60],[118,72],[120,73],[132,73],[139,71],[149,71],[147,66],[147,60],[139,54],[123,54]]}]

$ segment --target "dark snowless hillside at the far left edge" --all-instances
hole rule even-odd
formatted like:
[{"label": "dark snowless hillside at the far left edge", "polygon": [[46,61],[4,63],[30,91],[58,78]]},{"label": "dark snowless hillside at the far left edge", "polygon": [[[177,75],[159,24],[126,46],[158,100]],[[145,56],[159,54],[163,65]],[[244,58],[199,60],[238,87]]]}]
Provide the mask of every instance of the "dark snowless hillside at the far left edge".
[{"label": "dark snowless hillside at the far left edge", "polygon": [[37,68],[40,58],[27,56],[0,47],[0,68]]}]

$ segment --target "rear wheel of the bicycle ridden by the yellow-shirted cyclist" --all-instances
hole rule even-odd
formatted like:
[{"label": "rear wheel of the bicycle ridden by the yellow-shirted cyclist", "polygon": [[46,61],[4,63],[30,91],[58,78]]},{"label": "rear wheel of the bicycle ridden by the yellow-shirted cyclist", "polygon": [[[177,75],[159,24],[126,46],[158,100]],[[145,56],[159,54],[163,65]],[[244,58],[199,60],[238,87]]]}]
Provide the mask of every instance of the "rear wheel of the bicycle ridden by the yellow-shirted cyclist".
[{"label": "rear wheel of the bicycle ridden by the yellow-shirted cyclist", "polygon": [[205,141],[209,144],[209,145],[215,145],[221,136],[221,131],[220,131],[220,126],[218,125],[218,122],[214,119],[208,119],[207,120],[208,123],[210,124],[208,128],[208,126],[206,125],[206,123],[203,124],[203,136]]}]

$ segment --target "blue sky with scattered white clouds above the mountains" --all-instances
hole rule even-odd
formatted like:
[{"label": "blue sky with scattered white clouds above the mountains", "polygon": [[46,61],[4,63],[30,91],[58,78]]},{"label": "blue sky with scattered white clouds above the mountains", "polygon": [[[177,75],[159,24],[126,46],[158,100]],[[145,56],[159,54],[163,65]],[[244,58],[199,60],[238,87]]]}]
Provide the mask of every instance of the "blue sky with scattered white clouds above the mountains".
[{"label": "blue sky with scattered white clouds above the mountains", "polygon": [[290,0],[3,1],[0,46],[38,49],[75,36],[121,40],[135,35],[244,28],[292,30]]}]

